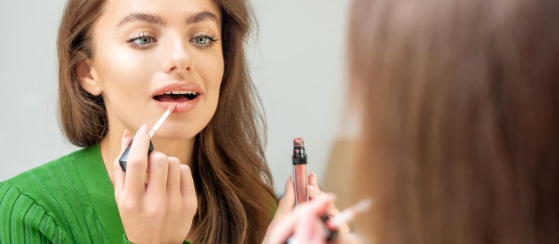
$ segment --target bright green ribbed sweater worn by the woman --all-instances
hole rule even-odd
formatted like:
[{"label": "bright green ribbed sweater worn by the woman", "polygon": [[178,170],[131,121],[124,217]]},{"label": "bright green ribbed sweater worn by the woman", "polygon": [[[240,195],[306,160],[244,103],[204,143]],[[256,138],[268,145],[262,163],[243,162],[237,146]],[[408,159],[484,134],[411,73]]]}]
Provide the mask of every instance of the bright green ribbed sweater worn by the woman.
[{"label": "bright green ribbed sweater worn by the woman", "polygon": [[1,182],[0,243],[129,243],[99,145]]}]

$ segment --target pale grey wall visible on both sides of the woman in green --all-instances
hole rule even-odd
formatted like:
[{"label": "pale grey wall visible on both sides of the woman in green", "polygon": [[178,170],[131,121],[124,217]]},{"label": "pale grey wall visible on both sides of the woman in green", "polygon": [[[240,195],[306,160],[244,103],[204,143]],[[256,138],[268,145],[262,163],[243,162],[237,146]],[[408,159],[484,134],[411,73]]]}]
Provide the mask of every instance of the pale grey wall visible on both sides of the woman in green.
[{"label": "pale grey wall visible on both sides of the woman in green", "polygon": [[[77,148],[57,123],[57,26],[62,0],[0,0],[0,181]],[[323,174],[344,107],[347,0],[253,0],[252,77],[268,119],[266,155],[278,192],[302,136],[310,170]]]}]

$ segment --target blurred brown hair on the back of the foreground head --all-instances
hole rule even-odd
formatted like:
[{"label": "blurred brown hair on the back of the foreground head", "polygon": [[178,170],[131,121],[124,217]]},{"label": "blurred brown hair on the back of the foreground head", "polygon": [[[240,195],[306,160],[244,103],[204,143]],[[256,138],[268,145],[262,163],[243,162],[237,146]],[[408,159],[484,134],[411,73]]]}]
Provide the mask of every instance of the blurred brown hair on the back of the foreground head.
[{"label": "blurred brown hair on the back of the foreground head", "polygon": [[363,233],[559,243],[558,23],[556,0],[354,1]]}]

